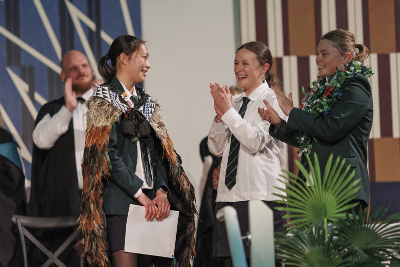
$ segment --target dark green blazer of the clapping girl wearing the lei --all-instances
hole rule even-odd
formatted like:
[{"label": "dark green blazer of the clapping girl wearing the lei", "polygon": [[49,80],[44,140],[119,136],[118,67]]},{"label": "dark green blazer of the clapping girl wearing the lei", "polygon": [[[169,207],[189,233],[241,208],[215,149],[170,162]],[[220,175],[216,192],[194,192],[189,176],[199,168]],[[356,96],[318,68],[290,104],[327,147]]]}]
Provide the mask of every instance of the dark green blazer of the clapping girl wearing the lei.
[{"label": "dark green blazer of the clapping girl wearing the lei", "polygon": [[[323,171],[326,162],[333,153],[333,159],[337,156],[345,158],[345,167],[351,165],[350,172],[354,169],[353,179],[361,179],[360,190],[355,199],[369,200],[369,177],[367,170],[367,142],[372,127],[372,93],[368,80],[361,74],[355,79],[344,83],[341,98],[338,98],[332,106],[329,114],[318,116],[294,108],[290,111],[287,123],[282,120],[275,131],[271,125],[269,134],[289,145],[299,147],[295,136],[298,132],[304,132],[318,139],[312,144],[314,153],[318,155],[318,161]],[[313,160],[313,155],[310,155]],[[304,164],[305,157],[301,158]]]}]

